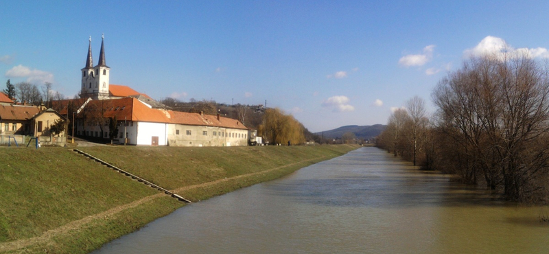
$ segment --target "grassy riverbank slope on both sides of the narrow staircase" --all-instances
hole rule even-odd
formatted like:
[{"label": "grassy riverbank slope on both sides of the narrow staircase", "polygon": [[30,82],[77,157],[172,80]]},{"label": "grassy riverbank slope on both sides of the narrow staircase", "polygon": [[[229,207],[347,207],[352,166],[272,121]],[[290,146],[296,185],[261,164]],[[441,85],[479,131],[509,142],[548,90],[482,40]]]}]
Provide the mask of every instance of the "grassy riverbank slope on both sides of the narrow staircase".
[{"label": "grassy riverbank slope on both sides of the narrow staircase", "polygon": [[[278,178],[355,148],[81,150],[197,201]],[[184,205],[66,148],[0,149],[0,253],[87,253]]]}]

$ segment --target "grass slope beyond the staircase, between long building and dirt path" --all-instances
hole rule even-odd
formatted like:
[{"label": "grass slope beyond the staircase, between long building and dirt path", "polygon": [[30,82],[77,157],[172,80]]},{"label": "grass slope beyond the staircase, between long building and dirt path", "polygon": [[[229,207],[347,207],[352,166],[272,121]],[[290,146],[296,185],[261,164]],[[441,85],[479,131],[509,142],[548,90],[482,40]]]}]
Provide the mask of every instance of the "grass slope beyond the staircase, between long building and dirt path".
[{"label": "grass slope beyond the staircase, between long building and dirt path", "polygon": [[[84,152],[167,189],[340,156],[357,146],[89,147]],[[303,168],[302,165],[299,168]]]}]

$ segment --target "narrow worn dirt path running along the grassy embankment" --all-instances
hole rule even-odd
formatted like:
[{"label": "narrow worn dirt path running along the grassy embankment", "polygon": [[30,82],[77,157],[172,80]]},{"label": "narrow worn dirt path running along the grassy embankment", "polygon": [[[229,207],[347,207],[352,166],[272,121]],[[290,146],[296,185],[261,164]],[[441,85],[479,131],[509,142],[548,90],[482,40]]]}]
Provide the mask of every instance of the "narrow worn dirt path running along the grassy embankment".
[{"label": "narrow worn dirt path running along the grassy embankment", "polygon": [[[322,159],[322,158],[323,157],[308,159],[308,160],[305,160],[305,161],[299,161],[299,162],[296,162],[296,163],[283,165],[283,166],[280,166],[280,167],[277,167],[277,168],[271,168],[270,170],[264,170],[264,171],[260,171],[260,172],[250,173],[250,174],[242,174],[240,176],[233,176],[231,178],[223,178],[223,179],[219,179],[219,180],[216,180],[216,181],[201,183],[201,184],[198,184],[198,185],[190,185],[190,186],[180,187],[178,189],[173,189],[173,190],[170,190],[170,191],[174,192],[174,193],[178,193],[178,192],[183,192],[183,191],[188,190],[188,189],[208,187],[208,186],[211,186],[211,185],[216,185],[218,183],[224,183],[226,181],[231,181],[231,180],[235,180],[235,179],[239,179],[239,178],[244,178],[244,177],[249,177],[249,176],[256,176],[256,175],[259,175],[259,174],[265,174],[265,173],[268,173],[268,172],[280,170],[281,168],[286,168],[286,167],[289,167],[289,166],[292,166],[292,165],[297,165],[299,163],[305,163],[307,161],[314,161],[314,160],[318,160],[318,159]],[[110,216],[113,216],[113,215],[121,212],[121,211],[124,211],[126,209],[130,209],[132,207],[137,207],[138,205],[141,205],[143,203],[147,203],[151,200],[154,200],[156,198],[160,198],[162,196],[165,196],[165,194],[159,193],[159,194],[154,194],[154,195],[151,195],[151,196],[146,196],[145,198],[141,198],[140,200],[136,200],[132,203],[128,203],[126,205],[121,205],[119,207],[114,207],[113,209],[108,209],[106,211],[103,211],[102,213],[97,213],[97,214],[94,214],[94,215],[91,215],[91,216],[87,216],[87,217],[84,217],[80,220],[73,220],[72,222],[69,222],[69,223],[67,223],[67,224],[65,224],[61,227],[56,228],[56,229],[50,229],[48,231],[45,231],[42,235],[36,236],[34,238],[21,239],[21,240],[16,240],[16,241],[13,241],[13,242],[2,242],[2,243],[0,243],[0,253],[5,252],[5,251],[16,251],[16,250],[19,250],[19,249],[23,249],[27,246],[31,246],[33,244],[45,244],[45,243],[49,242],[51,240],[51,238],[54,238],[57,235],[63,235],[63,234],[69,233],[69,231],[73,231],[73,230],[76,230],[76,229],[81,229],[82,227],[85,227],[86,224],[88,224],[89,222],[92,222],[93,220],[97,220],[97,219],[101,219],[101,218],[108,218]]]}]

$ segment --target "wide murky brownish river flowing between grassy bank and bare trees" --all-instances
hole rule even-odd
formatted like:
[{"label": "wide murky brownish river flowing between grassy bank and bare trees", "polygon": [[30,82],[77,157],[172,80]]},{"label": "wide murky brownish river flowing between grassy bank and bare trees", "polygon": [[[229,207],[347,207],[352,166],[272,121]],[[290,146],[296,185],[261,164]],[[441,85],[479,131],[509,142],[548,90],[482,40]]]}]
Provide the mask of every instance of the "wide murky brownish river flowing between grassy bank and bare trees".
[{"label": "wide murky brownish river flowing between grassy bank and bare trees", "polygon": [[178,209],[94,253],[549,253],[546,207],[360,148]]}]

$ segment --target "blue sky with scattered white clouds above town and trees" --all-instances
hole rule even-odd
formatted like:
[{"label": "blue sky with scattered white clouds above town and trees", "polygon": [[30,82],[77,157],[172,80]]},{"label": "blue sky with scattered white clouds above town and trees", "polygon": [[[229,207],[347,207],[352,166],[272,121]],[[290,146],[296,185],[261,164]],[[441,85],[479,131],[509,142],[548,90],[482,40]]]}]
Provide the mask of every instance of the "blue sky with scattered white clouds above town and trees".
[{"label": "blue sky with scattered white clouds above town and trees", "polygon": [[313,132],[386,124],[468,56],[549,58],[548,1],[3,1],[0,75],[74,97],[89,36],[110,84],[264,104]]}]

